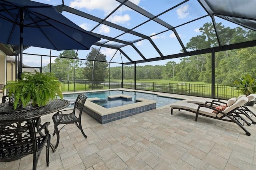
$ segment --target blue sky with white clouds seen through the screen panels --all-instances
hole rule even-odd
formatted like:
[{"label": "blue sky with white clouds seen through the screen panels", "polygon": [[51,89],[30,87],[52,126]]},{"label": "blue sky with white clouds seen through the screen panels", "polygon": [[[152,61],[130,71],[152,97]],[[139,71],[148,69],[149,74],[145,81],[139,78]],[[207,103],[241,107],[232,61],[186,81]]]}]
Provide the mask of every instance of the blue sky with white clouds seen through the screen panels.
[{"label": "blue sky with white clouds seen through the screen panels", "polygon": [[[51,4],[51,5],[60,5],[62,4],[62,0],[34,0],[36,2],[41,2],[45,4]],[[183,2],[183,0],[130,0],[134,4],[140,6],[144,10],[147,10],[153,15],[158,15],[165,10],[171,8],[172,6],[175,6],[179,4],[180,2]],[[96,16],[98,18],[106,18],[112,10],[114,10],[120,3],[115,0],[64,0],[64,4],[66,6],[70,6],[72,8],[81,10],[82,12],[86,12],[88,14],[91,14],[93,16]],[[66,16],[68,19],[82,27],[83,29],[87,31],[91,31],[98,23],[95,21],[88,20],[86,18],[82,18],[79,16],[75,16],[74,14],[70,14],[68,12],[62,12],[64,16]],[[200,18],[207,13],[204,11],[204,9],[200,6],[197,0],[190,0],[181,6],[178,6],[169,12],[159,16],[161,20],[169,23],[173,27],[176,27],[178,25],[182,25],[183,23],[186,23],[188,21]],[[126,27],[128,29],[132,29],[139,25],[140,23],[143,23],[144,21],[147,21],[148,18],[145,16],[142,16],[141,14],[131,10],[130,8],[126,6],[122,6],[119,8],[116,12],[114,12],[110,17],[107,18],[107,21],[110,21],[112,23],[121,25],[122,27]],[[222,19],[217,19],[217,22],[223,22],[226,25],[230,27],[236,27],[237,25],[233,24],[230,25],[230,23],[226,22]],[[178,35],[180,36],[180,39],[186,46],[186,43],[189,42],[189,40],[197,35],[201,35],[202,33],[199,31],[199,28],[203,26],[206,22],[212,22],[210,17],[206,17],[194,22],[191,22],[189,24],[185,24],[182,26],[179,26],[176,28],[176,31],[178,32]],[[144,35],[150,36],[155,35],[157,33],[160,33],[161,31],[167,30],[166,27],[154,22],[149,21],[148,23],[145,23],[144,25],[141,25],[135,29],[133,29],[136,32],[142,33]],[[123,31],[117,30],[115,28],[109,27],[107,25],[99,25],[95,29],[93,29],[94,33],[100,33],[102,35],[106,35],[108,37],[117,37],[118,35],[122,34]],[[151,37],[156,46],[160,49],[162,54],[165,55],[172,55],[176,53],[181,53],[180,50],[182,47],[180,46],[180,43],[178,43],[178,40],[176,36],[174,35],[173,31],[166,31],[164,33],[161,33],[159,35],[155,35]],[[117,37],[117,39],[125,40],[125,41],[134,41],[140,39],[140,37],[137,37],[135,35],[126,33],[124,35],[121,35],[120,37]],[[104,39],[101,40],[102,42],[106,41]],[[115,42],[109,42],[108,44],[118,44]],[[157,51],[154,49],[154,47],[150,44],[148,40],[139,41],[134,44],[139,51],[146,57],[146,59],[154,58],[154,57],[160,57],[160,55],[157,53]],[[97,47],[98,46],[92,46]],[[136,53],[136,51],[131,47],[123,47],[122,50],[134,61],[136,60],[142,60],[140,55]],[[58,56],[62,51],[53,51],[51,52],[51,55]],[[79,50],[78,51],[78,57],[80,59],[86,59],[86,55],[90,52],[90,50]],[[102,48],[101,53],[104,53],[107,56],[107,61],[110,61],[114,54],[116,53],[116,50],[114,49],[108,49],[108,48]],[[49,49],[42,49],[37,47],[30,47],[24,51],[24,53],[34,53],[34,54],[41,54],[41,55],[50,55]],[[129,62],[127,59],[122,57],[122,60],[124,63]],[[116,53],[114,58],[112,59],[113,62],[120,62],[120,53]],[[168,61],[175,61],[179,62],[179,59],[172,59],[172,60],[164,60],[164,61],[158,61],[154,63],[144,63],[145,64],[152,64],[152,65],[164,65]],[[26,56],[24,55],[24,64],[27,65],[36,65],[38,66],[38,63],[40,64],[40,61],[36,61],[34,57],[32,56]],[[43,59],[43,65],[49,63],[49,60]]]}]

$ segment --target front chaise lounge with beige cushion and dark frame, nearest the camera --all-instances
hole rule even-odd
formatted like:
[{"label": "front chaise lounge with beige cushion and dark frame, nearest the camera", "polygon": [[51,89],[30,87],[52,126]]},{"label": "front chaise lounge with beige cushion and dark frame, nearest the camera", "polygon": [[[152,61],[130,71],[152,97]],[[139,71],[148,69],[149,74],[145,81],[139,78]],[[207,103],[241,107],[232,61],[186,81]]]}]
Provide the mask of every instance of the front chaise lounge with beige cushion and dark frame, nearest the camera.
[{"label": "front chaise lounge with beige cushion and dark frame, nearest the camera", "polygon": [[[186,102],[177,102],[177,103],[171,104],[170,107],[171,107],[171,114],[173,114],[173,109],[178,109],[179,111],[186,110],[192,113],[196,113],[195,121],[197,121],[198,115],[202,115],[202,116],[211,117],[211,118],[219,119],[223,121],[234,122],[246,132],[246,135],[250,136],[251,134],[244,127],[244,122],[246,122],[245,119],[237,113],[239,111],[238,109],[244,104],[246,104],[247,102],[248,102],[248,98],[242,96],[234,104],[226,107],[222,111],[212,106],[186,103]],[[241,121],[243,121],[243,123],[241,123]],[[250,123],[247,125],[250,125]]]}]

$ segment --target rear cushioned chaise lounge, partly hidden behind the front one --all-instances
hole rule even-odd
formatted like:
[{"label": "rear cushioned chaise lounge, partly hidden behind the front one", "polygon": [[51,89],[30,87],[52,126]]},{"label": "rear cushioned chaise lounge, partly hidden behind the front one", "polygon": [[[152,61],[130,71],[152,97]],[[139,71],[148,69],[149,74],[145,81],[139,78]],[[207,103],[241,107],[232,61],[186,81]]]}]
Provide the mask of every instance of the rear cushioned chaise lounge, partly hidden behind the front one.
[{"label": "rear cushioned chaise lounge, partly hidden behind the front one", "polygon": [[[242,96],[245,96],[245,95],[238,96],[237,99],[241,98]],[[247,98],[248,98],[248,102],[251,102],[255,100],[256,94],[250,94],[247,96]],[[227,106],[231,106],[236,102],[237,99],[236,98],[231,98],[229,100],[192,99],[192,100],[188,100],[187,102],[217,107],[223,104],[226,104]],[[252,116],[254,115],[254,117],[256,117],[256,115],[245,104],[238,109],[238,113],[245,115],[248,119],[250,119],[250,121],[252,121],[252,124],[254,125],[256,124],[256,121],[252,119]]]}]

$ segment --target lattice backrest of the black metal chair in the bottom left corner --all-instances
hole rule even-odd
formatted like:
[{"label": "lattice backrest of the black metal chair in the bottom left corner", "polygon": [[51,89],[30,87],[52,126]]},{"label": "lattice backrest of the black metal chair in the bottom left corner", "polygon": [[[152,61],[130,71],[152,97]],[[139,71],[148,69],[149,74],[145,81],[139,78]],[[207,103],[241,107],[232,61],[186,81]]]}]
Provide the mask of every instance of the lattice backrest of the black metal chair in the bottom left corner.
[{"label": "lattice backrest of the black metal chair in the bottom left corner", "polygon": [[0,160],[11,161],[17,155],[33,153],[36,133],[32,119],[0,121],[0,129]]}]

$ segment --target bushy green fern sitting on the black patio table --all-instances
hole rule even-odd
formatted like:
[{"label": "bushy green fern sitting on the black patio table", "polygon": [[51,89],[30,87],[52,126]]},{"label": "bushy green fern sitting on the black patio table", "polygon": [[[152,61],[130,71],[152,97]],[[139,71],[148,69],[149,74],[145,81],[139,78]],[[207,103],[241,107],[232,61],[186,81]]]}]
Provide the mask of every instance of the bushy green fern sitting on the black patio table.
[{"label": "bushy green fern sitting on the black patio table", "polygon": [[5,87],[9,93],[9,99],[14,98],[13,106],[26,107],[29,102],[32,106],[45,106],[58,95],[63,99],[61,82],[53,73],[23,72],[22,79],[10,81]]}]

